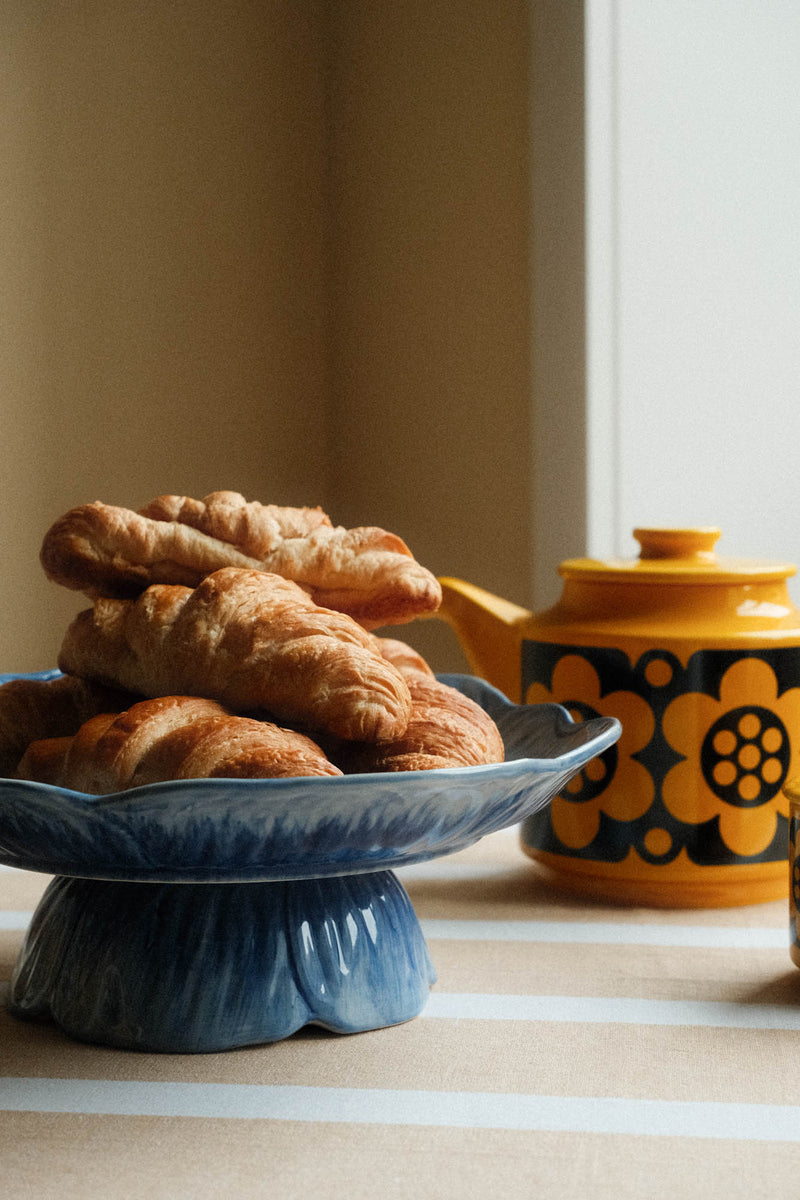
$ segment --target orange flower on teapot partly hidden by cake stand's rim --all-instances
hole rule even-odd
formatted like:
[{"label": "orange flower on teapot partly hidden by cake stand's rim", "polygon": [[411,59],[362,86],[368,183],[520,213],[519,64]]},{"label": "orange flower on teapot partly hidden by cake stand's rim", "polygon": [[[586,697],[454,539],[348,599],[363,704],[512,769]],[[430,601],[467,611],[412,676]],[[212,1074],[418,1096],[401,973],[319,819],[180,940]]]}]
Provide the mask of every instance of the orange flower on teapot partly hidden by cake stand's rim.
[{"label": "orange flower on teapot partly hidden by cake stand's rim", "polygon": [[[561,704],[573,720],[615,716],[622,732],[615,746],[587,763],[551,805],[557,836],[570,850],[582,850],[597,835],[600,815],[616,821],[636,821],[652,804],[650,772],[632,757],[648,744],[655,730],[646,701],[632,691],[600,694],[597,672],[579,654],[565,654],[553,671],[552,690],[534,683],[528,689],[529,704]],[[614,767],[615,763],[615,767]]]}]

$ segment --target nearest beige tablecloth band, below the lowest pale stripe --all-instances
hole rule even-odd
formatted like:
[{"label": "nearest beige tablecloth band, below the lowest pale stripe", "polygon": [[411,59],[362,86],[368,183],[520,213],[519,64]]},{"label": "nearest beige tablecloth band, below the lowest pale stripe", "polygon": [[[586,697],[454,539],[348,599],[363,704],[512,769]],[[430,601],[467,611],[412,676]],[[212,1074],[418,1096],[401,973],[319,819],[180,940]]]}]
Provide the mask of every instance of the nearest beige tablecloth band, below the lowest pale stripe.
[{"label": "nearest beige tablecloth band, below the lowest pale stripe", "polygon": [[675,1200],[794,1194],[800,1146],[305,1122],[4,1117],[36,1200]]}]

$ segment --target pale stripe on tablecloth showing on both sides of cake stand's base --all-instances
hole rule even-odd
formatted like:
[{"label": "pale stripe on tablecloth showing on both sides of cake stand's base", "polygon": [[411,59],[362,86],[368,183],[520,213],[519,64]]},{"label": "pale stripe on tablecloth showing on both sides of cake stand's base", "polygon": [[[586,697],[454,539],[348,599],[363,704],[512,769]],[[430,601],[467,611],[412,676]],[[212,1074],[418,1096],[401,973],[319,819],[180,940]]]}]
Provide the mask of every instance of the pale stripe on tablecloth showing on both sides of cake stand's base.
[{"label": "pale stripe on tablecloth showing on both sides of cake stand's base", "polygon": [[[32,912],[0,910],[0,930],[25,930]],[[645,925],[584,920],[421,920],[432,941],[564,942],[584,946],[676,946],[787,950],[787,929],[748,925]]]}]

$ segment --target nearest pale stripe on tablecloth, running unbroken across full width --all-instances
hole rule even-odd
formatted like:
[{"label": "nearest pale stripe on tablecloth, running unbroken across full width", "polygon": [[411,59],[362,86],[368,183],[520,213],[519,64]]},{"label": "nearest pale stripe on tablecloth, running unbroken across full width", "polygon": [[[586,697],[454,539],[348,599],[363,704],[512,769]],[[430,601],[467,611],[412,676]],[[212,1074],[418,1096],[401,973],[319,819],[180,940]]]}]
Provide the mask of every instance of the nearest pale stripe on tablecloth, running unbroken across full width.
[{"label": "nearest pale stripe on tablecloth, running unbroken across full width", "polygon": [[259,1084],[0,1079],[0,1109],[103,1116],[549,1130],[735,1141],[800,1140],[800,1108]]}]

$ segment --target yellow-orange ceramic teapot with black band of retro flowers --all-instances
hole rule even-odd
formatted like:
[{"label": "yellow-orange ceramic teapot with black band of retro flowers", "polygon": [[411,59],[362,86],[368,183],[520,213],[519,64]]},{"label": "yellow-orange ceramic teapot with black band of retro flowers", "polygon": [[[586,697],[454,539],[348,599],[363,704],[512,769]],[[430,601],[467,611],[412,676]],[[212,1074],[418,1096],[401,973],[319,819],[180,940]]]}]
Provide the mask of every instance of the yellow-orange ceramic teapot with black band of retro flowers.
[{"label": "yellow-orange ceramic teapot with black band of retro flowers", "polygon": [[786,899],[787,779],[800,775],[800,611],[790,564],[720,558],[720,530],[636,529],[637,559],[564,562],[534,616],[443,578],[471,670],[517,702],[616,716],[619,743],[521,827],[563,883],[625,902]]}]

